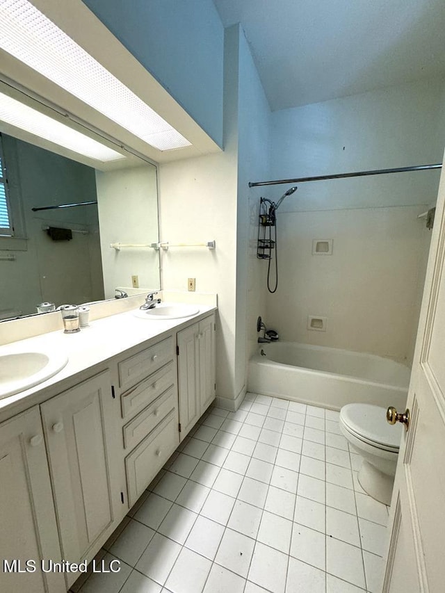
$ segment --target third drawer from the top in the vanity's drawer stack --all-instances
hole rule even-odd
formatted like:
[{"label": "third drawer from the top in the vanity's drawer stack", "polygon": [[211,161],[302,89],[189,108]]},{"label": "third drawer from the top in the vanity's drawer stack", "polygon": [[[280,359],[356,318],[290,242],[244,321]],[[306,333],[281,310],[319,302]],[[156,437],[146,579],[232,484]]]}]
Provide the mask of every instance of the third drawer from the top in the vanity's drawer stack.
[{"label": "third drawer from the top in the vanity's drawer stack", "polygon": [[175,407],[177,397],[174,387],[171,386],[124,426],[124,448],[135,447]]}]

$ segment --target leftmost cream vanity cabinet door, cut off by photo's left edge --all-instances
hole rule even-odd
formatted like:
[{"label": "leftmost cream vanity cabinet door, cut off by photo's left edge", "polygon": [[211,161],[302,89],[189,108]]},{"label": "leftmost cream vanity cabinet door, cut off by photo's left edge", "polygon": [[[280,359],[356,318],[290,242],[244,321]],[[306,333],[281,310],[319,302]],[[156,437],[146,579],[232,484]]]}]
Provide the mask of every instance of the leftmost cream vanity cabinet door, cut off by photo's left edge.
[{"label": "leftmost cream vanity cabinet door, cut off by photo's left edge", "polygon": [[[41,560],[60,562],[60,547],[38,406],[0,425],[0,530],[0,591],[65,591],[63,574],[40,570]],[[5,560],[24,572],[7,572]]]}]

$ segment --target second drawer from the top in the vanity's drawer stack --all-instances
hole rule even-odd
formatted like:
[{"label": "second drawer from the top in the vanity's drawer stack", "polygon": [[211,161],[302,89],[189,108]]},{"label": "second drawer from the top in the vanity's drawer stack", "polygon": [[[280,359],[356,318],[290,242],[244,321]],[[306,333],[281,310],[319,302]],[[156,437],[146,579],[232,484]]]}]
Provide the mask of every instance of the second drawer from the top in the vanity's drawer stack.
[{"label": "second drawer from the top in the vanity's drawer stack", "polygon": [[175,366],[169,362],[120,396],[122,418],[143,409],[175,383]]}]

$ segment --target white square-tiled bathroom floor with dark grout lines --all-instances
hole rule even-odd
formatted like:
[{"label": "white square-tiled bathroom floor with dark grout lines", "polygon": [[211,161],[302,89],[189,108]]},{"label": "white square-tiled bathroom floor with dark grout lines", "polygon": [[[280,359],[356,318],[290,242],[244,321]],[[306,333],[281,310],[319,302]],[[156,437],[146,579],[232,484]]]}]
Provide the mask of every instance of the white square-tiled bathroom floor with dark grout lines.
[{"label": "white square-tiled bathroom floor with dark grout lines", "polygon": [[379,593],[388,510],[338,415],[252,393],[211,407],[106,544],[121,571],[80,593]]}]

